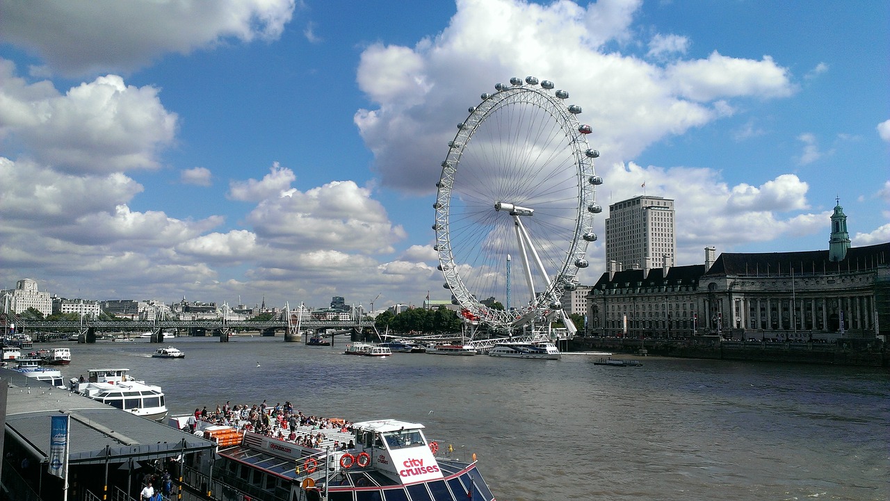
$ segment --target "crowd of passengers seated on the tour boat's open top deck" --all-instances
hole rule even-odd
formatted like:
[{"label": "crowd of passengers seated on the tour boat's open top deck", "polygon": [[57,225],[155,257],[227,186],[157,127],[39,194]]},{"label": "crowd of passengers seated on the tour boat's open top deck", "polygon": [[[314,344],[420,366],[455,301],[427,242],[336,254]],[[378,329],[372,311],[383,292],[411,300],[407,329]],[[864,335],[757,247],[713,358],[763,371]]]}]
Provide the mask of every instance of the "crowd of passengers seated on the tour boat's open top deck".
[{"label": "crowd of passengers seated on the tour boat's open top deck", "polygon": [[[289,401],[284,405],[280,403],[271,407],[266,400],[260,405],[235,405],[226,402],[215,411],[204,408],[196,408],[193,416],[189,416],[188,425],[191,432],[197,428],[198,421],[223,426],[233,426],[241,431],[255,432],[273,437],[279,440],[287,440],[303,447],[320,448],[325,440],[325,434],[320,430],[338,430],[352,433],[352,423],[344,419],[319,416],[306,416],[303,411],[295,410]],[[311,432],[297,431],[300,426],[312,427]],[[355,448],[352,440],[349,442],[334,442],[334,448],[348,450]]]}]

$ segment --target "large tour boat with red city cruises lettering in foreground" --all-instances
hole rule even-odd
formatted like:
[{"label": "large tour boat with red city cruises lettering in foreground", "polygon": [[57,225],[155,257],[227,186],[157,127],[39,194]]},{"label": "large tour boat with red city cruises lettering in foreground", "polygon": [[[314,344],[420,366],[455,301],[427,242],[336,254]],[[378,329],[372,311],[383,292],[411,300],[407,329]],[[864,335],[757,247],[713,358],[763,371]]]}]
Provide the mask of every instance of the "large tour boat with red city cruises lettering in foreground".
[{"label": "large tour boat with red city cruises lettering in foreground", "polygon": [[[181,428],[181,420],[174,426]],[[198,422],[197,432],[219,435],[216,428]],[[469,461],[458,458],[453,448],[427,440],[424,428],[395,419],[342,429],[298,427],[298,435],[323,435],[315,448],[232,428],[221,435],[232,445],[220,441],[214,461],[198,473],[225,499],[494,501],[475,454]],[[335,447],[335,441],[354,447]]]}]

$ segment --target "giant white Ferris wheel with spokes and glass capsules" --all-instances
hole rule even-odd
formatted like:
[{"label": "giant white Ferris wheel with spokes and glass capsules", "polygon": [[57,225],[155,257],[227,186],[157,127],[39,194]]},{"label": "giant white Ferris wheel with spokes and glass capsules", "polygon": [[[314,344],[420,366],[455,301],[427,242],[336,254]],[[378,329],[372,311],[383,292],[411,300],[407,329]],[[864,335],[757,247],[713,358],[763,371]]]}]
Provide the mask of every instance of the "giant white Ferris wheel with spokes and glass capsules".
[{"label": "giant white Ferris wheel with spokes and glass capsules", "polygon": [[514,77],[495,91],[481,94],[449,141],[433,204],[435,249],[466,319],[534,329],[566,319],[562,293],[587,267],[603,210],[595,202],[599,152],[587,145],[581,108],[553,82]]}]

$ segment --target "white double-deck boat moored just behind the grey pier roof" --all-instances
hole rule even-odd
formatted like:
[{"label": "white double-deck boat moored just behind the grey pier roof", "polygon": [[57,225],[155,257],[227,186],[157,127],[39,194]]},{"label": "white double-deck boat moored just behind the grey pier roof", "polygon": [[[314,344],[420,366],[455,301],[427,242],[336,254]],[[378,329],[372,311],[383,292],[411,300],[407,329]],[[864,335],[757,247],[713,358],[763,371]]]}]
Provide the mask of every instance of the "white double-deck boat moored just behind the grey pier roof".
[{"label": "white double-deck boat moored just behind the grey pier roof", "polygon": [[164,392],[130,376],[128,368],[91,368],[85,381],[71,379],[71,389],[85,397],[160,421],[166,417]]}]

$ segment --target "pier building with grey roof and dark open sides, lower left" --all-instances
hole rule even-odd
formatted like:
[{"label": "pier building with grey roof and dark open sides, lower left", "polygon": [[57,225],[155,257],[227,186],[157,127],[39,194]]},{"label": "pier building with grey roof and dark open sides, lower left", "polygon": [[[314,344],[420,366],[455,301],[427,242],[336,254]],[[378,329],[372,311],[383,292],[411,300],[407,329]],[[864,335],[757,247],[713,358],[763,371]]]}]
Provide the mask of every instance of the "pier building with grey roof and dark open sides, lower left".
[{"label": "pier building with grey roof and dark open sides, lower left", "polygon": [[[9,369],[0,368],[0,379],[6,390],[0,483],[10,499],[138,499],[144,482],[164,472],[175,498],[183,465],[213,457],[214,441]],[[51,445],[60,439],[53,416],[67,416],[67,454]]]}]

